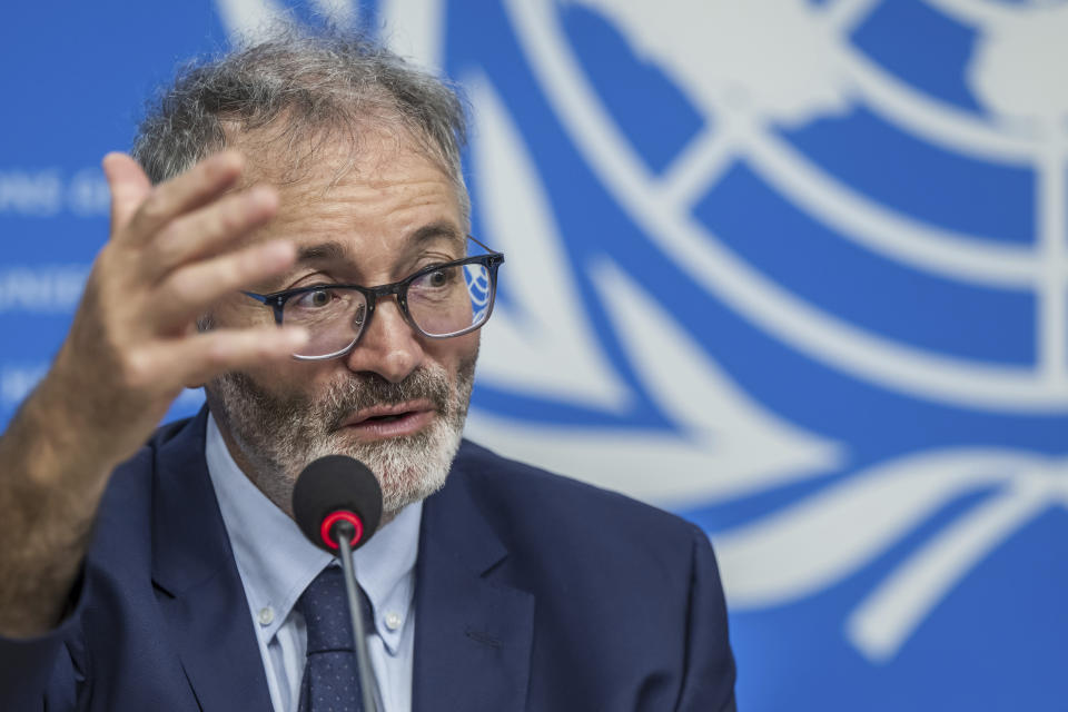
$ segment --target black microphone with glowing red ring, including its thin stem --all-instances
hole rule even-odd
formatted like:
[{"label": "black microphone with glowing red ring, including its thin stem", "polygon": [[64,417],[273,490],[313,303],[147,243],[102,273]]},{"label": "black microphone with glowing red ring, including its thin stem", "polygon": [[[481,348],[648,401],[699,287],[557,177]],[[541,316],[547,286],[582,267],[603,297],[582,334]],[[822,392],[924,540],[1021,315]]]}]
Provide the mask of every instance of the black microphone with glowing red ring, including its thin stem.
[{"label": "black microphone with glowing red ring, including its thin stem", "polygon": [[293,516],[313,544],[340,558],[364,711],[376,712],[378,684],[364,636],[353,551],[367,543],[382,520],[378,478],[358,459],[345,455],[320,457],[297,477],[293,487]]}]

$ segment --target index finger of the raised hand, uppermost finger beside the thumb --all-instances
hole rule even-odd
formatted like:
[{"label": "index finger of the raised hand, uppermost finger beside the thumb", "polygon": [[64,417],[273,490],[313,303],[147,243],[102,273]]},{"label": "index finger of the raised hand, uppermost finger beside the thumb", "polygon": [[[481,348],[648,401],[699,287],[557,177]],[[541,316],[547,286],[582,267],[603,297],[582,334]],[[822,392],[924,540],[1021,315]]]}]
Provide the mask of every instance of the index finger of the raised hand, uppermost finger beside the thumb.
[{"label": "index finger of the raised hand, uppermost finger beside the thumb", "polygon": [[179,215],[217,199],[237,182],[244,165],[237,151],[222,151],[156,186],[130,219],[129,239],[147,241]]}]

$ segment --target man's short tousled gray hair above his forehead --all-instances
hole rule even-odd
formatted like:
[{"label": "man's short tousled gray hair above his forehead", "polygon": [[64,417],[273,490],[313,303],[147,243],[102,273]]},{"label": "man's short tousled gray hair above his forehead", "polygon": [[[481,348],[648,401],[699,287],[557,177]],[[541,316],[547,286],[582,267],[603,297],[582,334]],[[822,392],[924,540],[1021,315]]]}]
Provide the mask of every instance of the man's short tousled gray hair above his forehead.
[{"label": "man's short tousled gray hair above his forehead", "polygon": [[156,184],[226,148],[228,130],[245,137],[265,129],[269,147],[312,165],[318,147],[339,138],[355,155],[362,132],[375,127],[417,141],[454,182],[466,222],[458,91],[363,34],[280,28],[266,41],[186,67],[149,108],[132,155]]}]

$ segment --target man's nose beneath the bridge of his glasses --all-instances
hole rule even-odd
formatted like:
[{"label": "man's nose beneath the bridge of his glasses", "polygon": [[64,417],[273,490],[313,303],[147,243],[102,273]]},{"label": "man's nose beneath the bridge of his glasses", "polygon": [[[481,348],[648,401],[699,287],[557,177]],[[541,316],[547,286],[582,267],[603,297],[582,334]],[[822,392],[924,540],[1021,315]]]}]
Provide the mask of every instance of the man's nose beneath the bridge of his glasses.
[{"label": "man's nose beneath the bridge of his glasses", "polygon": [[380,299],[374,318],[345,357],[349,370],[378,374],[390,383],[404,380],[426,357],[419,337],[395,299]]}]

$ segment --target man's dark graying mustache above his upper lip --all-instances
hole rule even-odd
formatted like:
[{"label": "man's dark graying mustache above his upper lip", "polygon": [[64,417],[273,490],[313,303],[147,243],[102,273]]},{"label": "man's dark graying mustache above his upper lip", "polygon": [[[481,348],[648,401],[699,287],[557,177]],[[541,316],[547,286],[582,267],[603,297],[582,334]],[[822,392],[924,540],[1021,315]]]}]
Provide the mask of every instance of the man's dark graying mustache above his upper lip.
[{"label": "man's dark graying mustache above his upper lip", "polygon": [[435,411],[446,414],[448,396],[448,376],[426,367],[412,372],[397,383],[386,380],[378,374],[354,374],[330,388],[323,422],[327,423],[327,431],[333,433],[340,429],[342,423],[353,413],[412,400],[427,400]]}]

